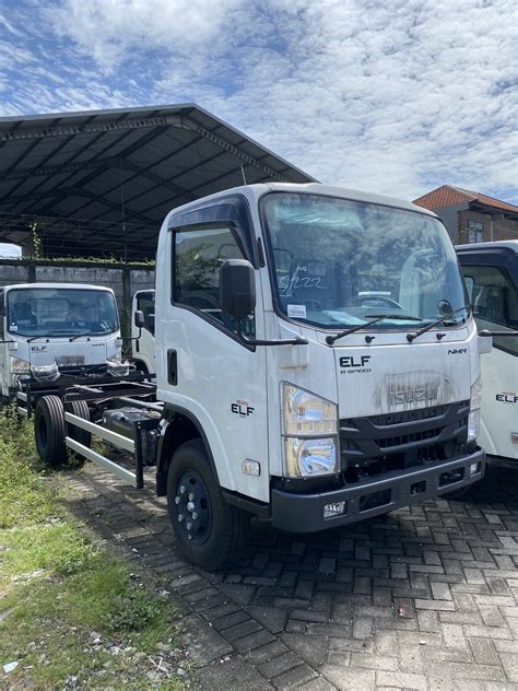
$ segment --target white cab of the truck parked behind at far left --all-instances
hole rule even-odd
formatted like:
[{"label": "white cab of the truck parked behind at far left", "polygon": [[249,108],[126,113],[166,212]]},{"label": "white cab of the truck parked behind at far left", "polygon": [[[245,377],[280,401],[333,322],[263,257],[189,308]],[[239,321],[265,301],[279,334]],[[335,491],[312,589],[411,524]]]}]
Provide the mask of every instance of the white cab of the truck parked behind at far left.
[{"label": "white cab of the truck parked behind at far left", "polygon": [[[68,377],[120,363],[119,317],[114,292],[70,283],[27,283],[0,290],[2,398],[26,402]],[[31,413],[31,406],[26,410]]]}]

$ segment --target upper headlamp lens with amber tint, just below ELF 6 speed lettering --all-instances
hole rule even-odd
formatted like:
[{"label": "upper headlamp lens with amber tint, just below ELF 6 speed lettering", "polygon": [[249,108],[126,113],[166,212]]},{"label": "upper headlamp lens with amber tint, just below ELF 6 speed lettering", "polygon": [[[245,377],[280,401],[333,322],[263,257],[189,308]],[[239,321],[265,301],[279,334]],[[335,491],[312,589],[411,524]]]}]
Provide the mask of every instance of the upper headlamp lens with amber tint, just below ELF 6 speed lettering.
[{"label": "upper headlamp lens with amber tint, just below ELF 6 speed lettering", "polygon": [[337,434],[338,411],[331,403],[310,391],[283,384],[283,432],[297,436]]}]

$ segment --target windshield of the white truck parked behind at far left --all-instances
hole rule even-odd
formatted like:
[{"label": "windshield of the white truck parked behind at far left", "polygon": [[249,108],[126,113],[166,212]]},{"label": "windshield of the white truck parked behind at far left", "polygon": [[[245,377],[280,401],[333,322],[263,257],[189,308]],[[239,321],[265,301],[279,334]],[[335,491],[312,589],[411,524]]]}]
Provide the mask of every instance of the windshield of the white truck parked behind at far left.
[{"label": "windshield of the white truck parked behind at far left", "polygon": [[17,336],[98,336],[119,328],[113,293],[66,288],[20,288],[8,292],[8,330]]}]

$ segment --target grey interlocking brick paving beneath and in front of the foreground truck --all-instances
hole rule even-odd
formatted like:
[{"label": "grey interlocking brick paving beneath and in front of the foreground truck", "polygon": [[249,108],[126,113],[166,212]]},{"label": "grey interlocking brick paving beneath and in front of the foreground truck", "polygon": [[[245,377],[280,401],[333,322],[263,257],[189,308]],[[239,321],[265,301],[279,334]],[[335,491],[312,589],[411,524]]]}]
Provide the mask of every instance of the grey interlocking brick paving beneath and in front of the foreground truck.
[{"label": "grey interlocking brick paving beneath and in front of the foreground truck", "polygon": [[518,472],[313,536],[257,524],[222,574],[181,559],[151,490],[93,465],[63,482],[167,583],[202,688],[518,690]]}]

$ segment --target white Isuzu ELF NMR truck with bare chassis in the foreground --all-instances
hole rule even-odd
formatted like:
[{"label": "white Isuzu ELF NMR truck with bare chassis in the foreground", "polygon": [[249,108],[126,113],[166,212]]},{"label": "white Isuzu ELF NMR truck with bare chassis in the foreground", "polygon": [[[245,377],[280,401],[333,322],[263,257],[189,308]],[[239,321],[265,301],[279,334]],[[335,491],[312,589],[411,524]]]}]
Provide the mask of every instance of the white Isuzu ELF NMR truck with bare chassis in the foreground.
[{"label": "white Isuzu ELF NMR truck with bare chassis in the foreground", "polygon": [[[40,419],[54,462],[69,447],[137,487],[154,466],[177,540],[204,569],[232,560],[251,515],[317,531],[484,475],[491,339],[446,229],[420,207],[263,184],[177,208],[160,233],[154,314],[153,399],[145,383],[72,386],[52,400],[62,419]],[[72,400],[97,422],[67,411]],[[129,450],[134,469],[78,443],[76,428]]]}]

